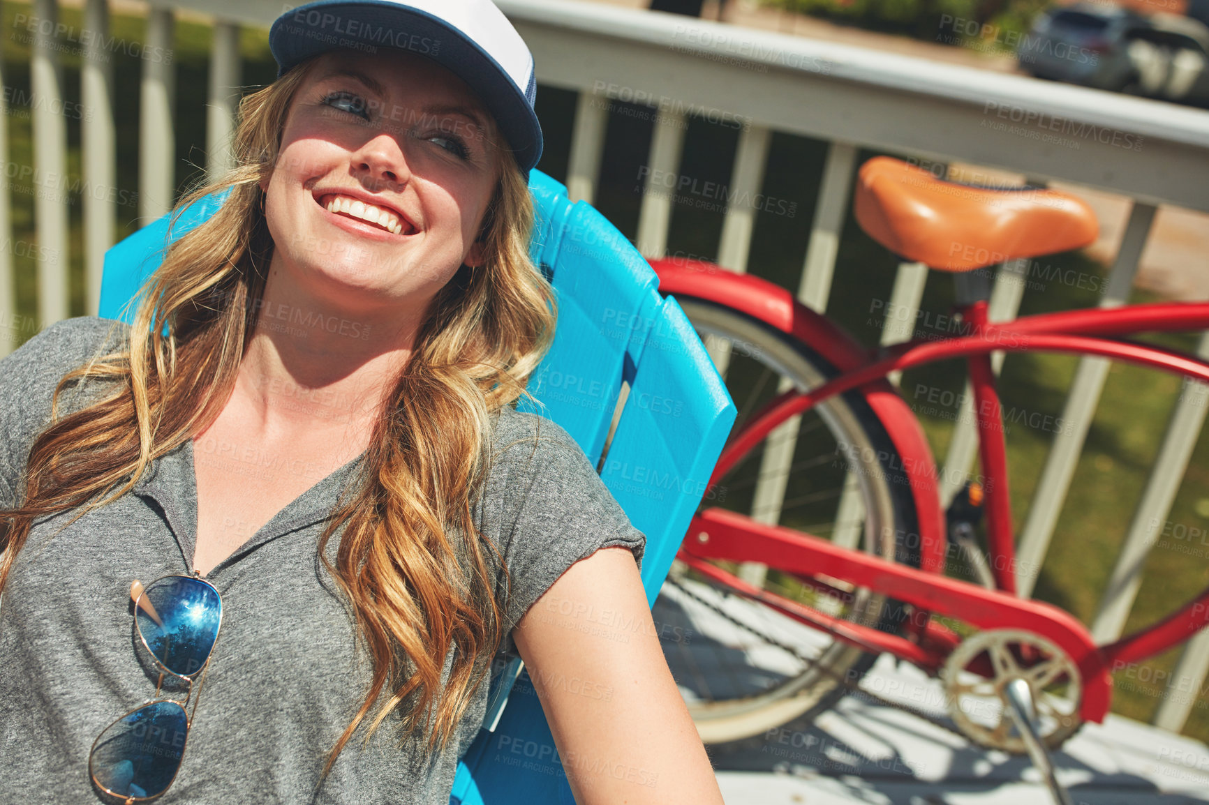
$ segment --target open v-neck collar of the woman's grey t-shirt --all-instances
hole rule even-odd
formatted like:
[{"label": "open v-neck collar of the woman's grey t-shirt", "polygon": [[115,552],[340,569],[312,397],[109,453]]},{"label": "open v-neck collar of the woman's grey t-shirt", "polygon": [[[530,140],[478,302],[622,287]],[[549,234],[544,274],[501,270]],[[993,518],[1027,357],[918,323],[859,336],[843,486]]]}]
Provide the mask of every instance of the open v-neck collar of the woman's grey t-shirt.
[{"label": "open v-neck collar of the woman's grey t-shirt", "polygon": [[[160,504],[168,527],[172,529],[181,558],[189,574],[193,573],[193,554],[197,550],[197,473],[193,463],[193,440],[164,453],[151,462],[143,477],[134,485],[134,493],[152,498]],[[332,470],[306,492],[285,504],[248,542],[231,556],[214,566],[206,578],[214,575],[271,539],[322,521],[330,512],[346,482],[365,458],[361,452],[347,464]]]}]

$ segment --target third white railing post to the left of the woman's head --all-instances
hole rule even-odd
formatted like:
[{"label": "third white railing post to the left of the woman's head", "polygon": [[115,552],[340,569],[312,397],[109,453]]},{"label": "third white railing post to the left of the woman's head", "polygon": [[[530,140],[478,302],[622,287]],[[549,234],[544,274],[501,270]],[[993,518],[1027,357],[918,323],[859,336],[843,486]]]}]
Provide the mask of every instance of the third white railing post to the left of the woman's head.
[{"label": "third white railing post to the left of the woman's head", "polygon": [[114,129],[114,71],[110,53],[108,0],[86,0],[85,28],[92,33],[80,69],[80,147],[83,173],[83,254],[87,314],[100,309],[100,279],[105,250],[114,245],[117,226],[117,138]]}]

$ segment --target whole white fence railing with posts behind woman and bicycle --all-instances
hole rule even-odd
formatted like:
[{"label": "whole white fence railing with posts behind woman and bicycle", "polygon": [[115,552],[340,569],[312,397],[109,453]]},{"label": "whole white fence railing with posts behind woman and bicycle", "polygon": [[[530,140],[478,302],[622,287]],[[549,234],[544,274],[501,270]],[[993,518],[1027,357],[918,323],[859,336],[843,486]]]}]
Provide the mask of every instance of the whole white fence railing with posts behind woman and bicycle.
[{"label": "whole white fence railing with posts behind woman and bicycle", "polygon": [[[799,299],[815,309],[827,306],[858,147],[939,163],[961,161],[1001,168],[1035,183],[1060,180],[1132,198],[1133,212],[1111,268],[1104,306],[1128,299],[1158,204],[1209,210],[1205,111],[615,6],[568,0],[499,0],[499,5],[532,48],[538,82],[579,93],[567,166],[573,199],[592,201],[601,175],[607,122],[602,95],[646,100],[659,108],[637,233],[637,245],[648,256],[664,254],[671,219],[671,198],[650,183],[661,175],[660,170],[677,172],[684,110],[725,110],[727,115],[750,121],[734,155],[730,190],[736,198],[759,192],[771,132],[829,141],[798,291]],[[175,10],[209,15],[214,22],[207,152],[208,168],[218,170],[226,164],[225,143],[238,97],[239,28],[267,28],[289,7],[270,0],[151,2],[141,44],[140,86],[139,214],[145,222],[170,208],[175,187],[174,66],[170,59],[155,57],[157,52],[170,52]],[[56,0],[33,0],[29,13],[40,22],[33,28],[37,31],[30,65],[33,95],[62,97],[62,70],[53,40]],[[85,19],[91,31],[100,34],[92,36],[88,46],[92,56],[99,56],[96,48],[106,41],[106,0],[85,0]],[[83,178],[88,186],[112,187],[117,173],[112,76],[108,59],[86,58],[83,63],[82,105],[92,110],[81,129]],[[64,116],[47,104],[35,104],[33,126],[34,168],[42,176],[63,175]],[[1077,147],[1070,147],[1070,141],[1076,141]],[[4,127],[0,158],[8,164]],[[46,248],[37,261],[39,313],[44,322],[54,322],[68,314],[65,193],[39,193],[35,218],[37,243]],[[115,220],[112,193],[83,193],[89,312],[97,309],[102,259],[114,241]],[[750,205],[727,210],[718,247],[719,262],[725,267],[746,271],[753,222]],[[7,193],[0,193],[0,230],[11,231]],[[1016,315],[1023,288],[1019,273],[1019,266],[1011,263],[1000,272],[991,300],[994,318]],[[926,274],[915,263],[901,266],[895,302],[918,308]],[[12,288],[11,254],[0,254],[0,317],[5,320],[13,314]],[[887,319],[886,326],[896,324]],[[883,342],[907,335],[890,330]],[[1202,341],[1201,351],[1209,354],[1209,338]],[[1054,438],[1020,534],[1022,595],[1029,595],[1035,581],[1035,573],[1028,569],[1039,568],[1045,558],[1106,372],[1106,361],[1095,358],[1083,359],[1076,372],[1063,412],[1071,427]],[[1157,537],[1153,523],[1167,519],[1204,412],[1201,396],[1185,394],[1172,415],[1093,624],[1099,638],[1121,633],[1138,591],[1140,560]],[[958,425],[945,461],[948,471],[942,475],[949,480],[947,494],[955,491],[971,467],[976,447],[972,428]],[[1207,670],[1209,635],[1202,633],[1187,645],[1172,678],[1190,685],[1184,690],[1199,690]],[[1194,696],[1164,696],[1156,723],[1180,730],[1194,701]]]}]

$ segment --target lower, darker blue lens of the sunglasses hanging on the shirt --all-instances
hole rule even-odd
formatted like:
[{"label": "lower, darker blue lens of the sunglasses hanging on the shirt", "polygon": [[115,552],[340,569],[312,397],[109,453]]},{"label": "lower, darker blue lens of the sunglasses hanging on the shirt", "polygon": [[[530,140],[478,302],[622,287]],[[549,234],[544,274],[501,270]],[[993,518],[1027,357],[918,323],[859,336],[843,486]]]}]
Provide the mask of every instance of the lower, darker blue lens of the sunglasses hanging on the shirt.
[{"label": "lower, darker blue lens of the sunglasses hanging on the shirt", "polygon": [[121,797],[158,797],[177,776],[189,729],[185,710],[157,701],[117,719],[88,755],[88,772]]}]

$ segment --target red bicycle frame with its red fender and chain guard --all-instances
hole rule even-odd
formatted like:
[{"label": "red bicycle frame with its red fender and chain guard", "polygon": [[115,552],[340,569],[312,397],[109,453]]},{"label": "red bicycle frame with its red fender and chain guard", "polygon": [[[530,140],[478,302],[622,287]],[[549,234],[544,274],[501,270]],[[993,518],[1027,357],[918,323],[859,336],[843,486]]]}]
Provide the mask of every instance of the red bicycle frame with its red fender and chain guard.
[{"label": "red bicycle frame with its red fender and chain guard", "polygon": [[[692,521],[677,558],[727,586],[759,600],[787,616],[832,633],[852,645],[890,651],[936,670],[959,638],[931,621],[949,615],[980,629],[1023,629],[1047,637],[1078,666],[1083,677],[1081,717],[1100,722],[1109,712],[1110,670],[1121,662],[1165,651],[1209,624],[1209,589],[1163,621],[1107,645],[1097,645],[1088,630],[1069,613],[1037,601],[1016,597],[1013,539],[1007,454],[993,352],[1062,352],[1100,355],[1209,382],[1209,364],[1184,353],[1117,341],[1112,336],[1209,329],[1209,303],[1140,305],[1031,315],[1013,322],[987,320],[987,303],[959,308],[965,334],[939,341],[912,341],[874,353],[861,347],[825,317],[810,311],[785,289],[748,274],[736,274],[698,261],[655,260],[659,290],[737,309],[800,340],[835,365],[841,375],[802,393],[789,389],[752,415],[723,450],[711,483],[718,482],[750,450],[786,419],[818,402],[860,389],[890,435],[915,502],[920,529],[920,568],[889,562],[870,554],[751,517],[711,508]],[[985,492],[987,538],[996,590],[942,575],[945,525],[937,494],[936,462],[919,422],[885,380],[886,375],[935,360],[965,358],[977,416],[979,458]],[[810,579],[822,574],[868,587],[914,608],[907,637],[841,621],[818,609],[744,583],[706,560],[760,562]],[[845,595],[811,581],[834,595]],[[1120,667],[1120,666],[1117,666]]]}]

